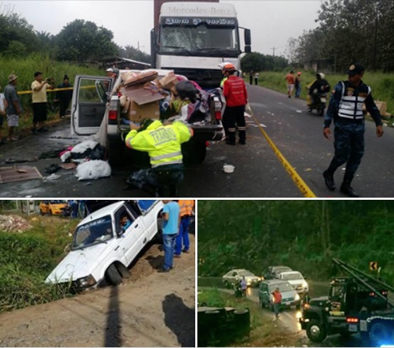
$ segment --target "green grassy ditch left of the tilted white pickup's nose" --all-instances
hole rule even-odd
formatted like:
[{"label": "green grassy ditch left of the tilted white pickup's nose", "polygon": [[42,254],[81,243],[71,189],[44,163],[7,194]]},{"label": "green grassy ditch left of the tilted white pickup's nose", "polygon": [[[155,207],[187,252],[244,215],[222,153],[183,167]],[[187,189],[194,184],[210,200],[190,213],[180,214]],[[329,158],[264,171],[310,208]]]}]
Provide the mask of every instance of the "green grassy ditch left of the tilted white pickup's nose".
[{"label": "green grassy ditch left of the tilted white pickup's nose", "polygon": [[70,284],[50,286],[45,278],[66,254],[79,220],[29,219],[22,234],[0,231],[0,312],[72,296]]}]

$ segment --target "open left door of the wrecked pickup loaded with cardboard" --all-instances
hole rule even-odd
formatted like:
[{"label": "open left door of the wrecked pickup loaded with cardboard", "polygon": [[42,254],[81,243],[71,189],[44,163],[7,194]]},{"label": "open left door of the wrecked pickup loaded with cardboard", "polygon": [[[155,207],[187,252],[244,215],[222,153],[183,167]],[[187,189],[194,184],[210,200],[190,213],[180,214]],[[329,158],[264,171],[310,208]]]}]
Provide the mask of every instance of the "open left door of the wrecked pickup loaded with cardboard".
[{"label": "open left door of the wrecked pickup loaded with cardboard", "polygon": [[95,134],[105,115],[114,79],[77,75],[71,103],[71,132],[78,136]]}]

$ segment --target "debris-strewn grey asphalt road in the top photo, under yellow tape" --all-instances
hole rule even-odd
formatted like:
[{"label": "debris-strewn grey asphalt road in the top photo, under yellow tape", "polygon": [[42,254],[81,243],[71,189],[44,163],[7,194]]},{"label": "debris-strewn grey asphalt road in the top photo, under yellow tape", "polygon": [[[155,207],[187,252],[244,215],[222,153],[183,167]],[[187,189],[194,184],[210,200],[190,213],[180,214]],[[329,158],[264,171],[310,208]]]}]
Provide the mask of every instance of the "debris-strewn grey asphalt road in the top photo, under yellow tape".
[{"label": "debris-strewn grey asphalt road in the top photo, under yellow tape", "polygon": [[[303,100],[289,99],[282,93],[255,85],[248,85],[248,92],[250,106],[258,122],[266,126],[268,136],[315,196],[344,198],[338,189],[335,192],[328,191],[323,181],[322,173],[333,155],[332,141],[323,138],[323,118],[308,114]],[[180,197],[303,197],[253,119],[247,118],[247,122],[247,145],[211,143],[206,160],[198,167],[185,169],[185,180],[179,189]],[[393,197],[391,176],[394,170],[390,159],[394,147],[394,130],[385,127],[385,131],[382,138],[377,138],[374,124],[367,122],[366,153],[352,185],[361,197]],[[1,146],[0,165],[9,167],[10,164],[5,163],[9,158],[33,160],[42,152],[76,145],[83,140],[86,138],[71,136],[69,119],[65,119],[51,127],[49,133],[29,135]],[[39,160],[23,165],[35,166],[45,176],[45,167],[52,163],[60,164],[60,160]],[[224,164],[233,164],[235,171],[225,174],[222,170]],[[62,169],[57,172],[61,177],[53,181],[33,179],[0,184],[0,197],[149,197],[143,191],[123,190],[124,179],[130,171],[129,162],[125,160],[124,166],[112,169],[109,178],[78,181],[73,170]],[[343,173],[344,170],[340,168],[335,175],[337,186],[340,186]]]}]

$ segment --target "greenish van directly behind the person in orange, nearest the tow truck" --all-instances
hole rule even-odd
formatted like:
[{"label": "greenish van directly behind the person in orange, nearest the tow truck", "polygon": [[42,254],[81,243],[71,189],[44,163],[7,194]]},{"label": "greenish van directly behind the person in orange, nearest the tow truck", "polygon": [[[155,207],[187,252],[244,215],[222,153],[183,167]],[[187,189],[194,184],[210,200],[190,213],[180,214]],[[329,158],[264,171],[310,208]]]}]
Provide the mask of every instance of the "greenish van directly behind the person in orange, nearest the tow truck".
[{"label": "greenish van directly behind the person in orange, nearest the tow truck", "polygon": [[296,290],[293,289],[291,284],[286,280],[263,280],[259,284],[259,303],[264,307],[270,308],[272,311],[274,310],[274,296],[272,292],[274,289],[279,287],[279,291],[282,294],[282,306],[290,307],[290,306],[300,306],[300,296],[296,293]]}]

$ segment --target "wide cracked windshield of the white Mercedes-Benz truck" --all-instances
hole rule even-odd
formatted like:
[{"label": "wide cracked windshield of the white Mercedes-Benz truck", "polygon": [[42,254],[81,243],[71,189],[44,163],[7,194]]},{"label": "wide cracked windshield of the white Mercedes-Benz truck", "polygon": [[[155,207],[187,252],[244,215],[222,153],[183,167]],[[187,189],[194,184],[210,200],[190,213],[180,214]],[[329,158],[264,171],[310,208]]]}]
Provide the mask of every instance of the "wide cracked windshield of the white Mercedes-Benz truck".
[{"label": "wide cracked windshield of the white Mercedes-Benz truck", "polygon": [[214,27],[206,24],[197,27],[162,26],[160,35],[160,52],[210,54],[238,51],[238,35],[234,27]]}]

